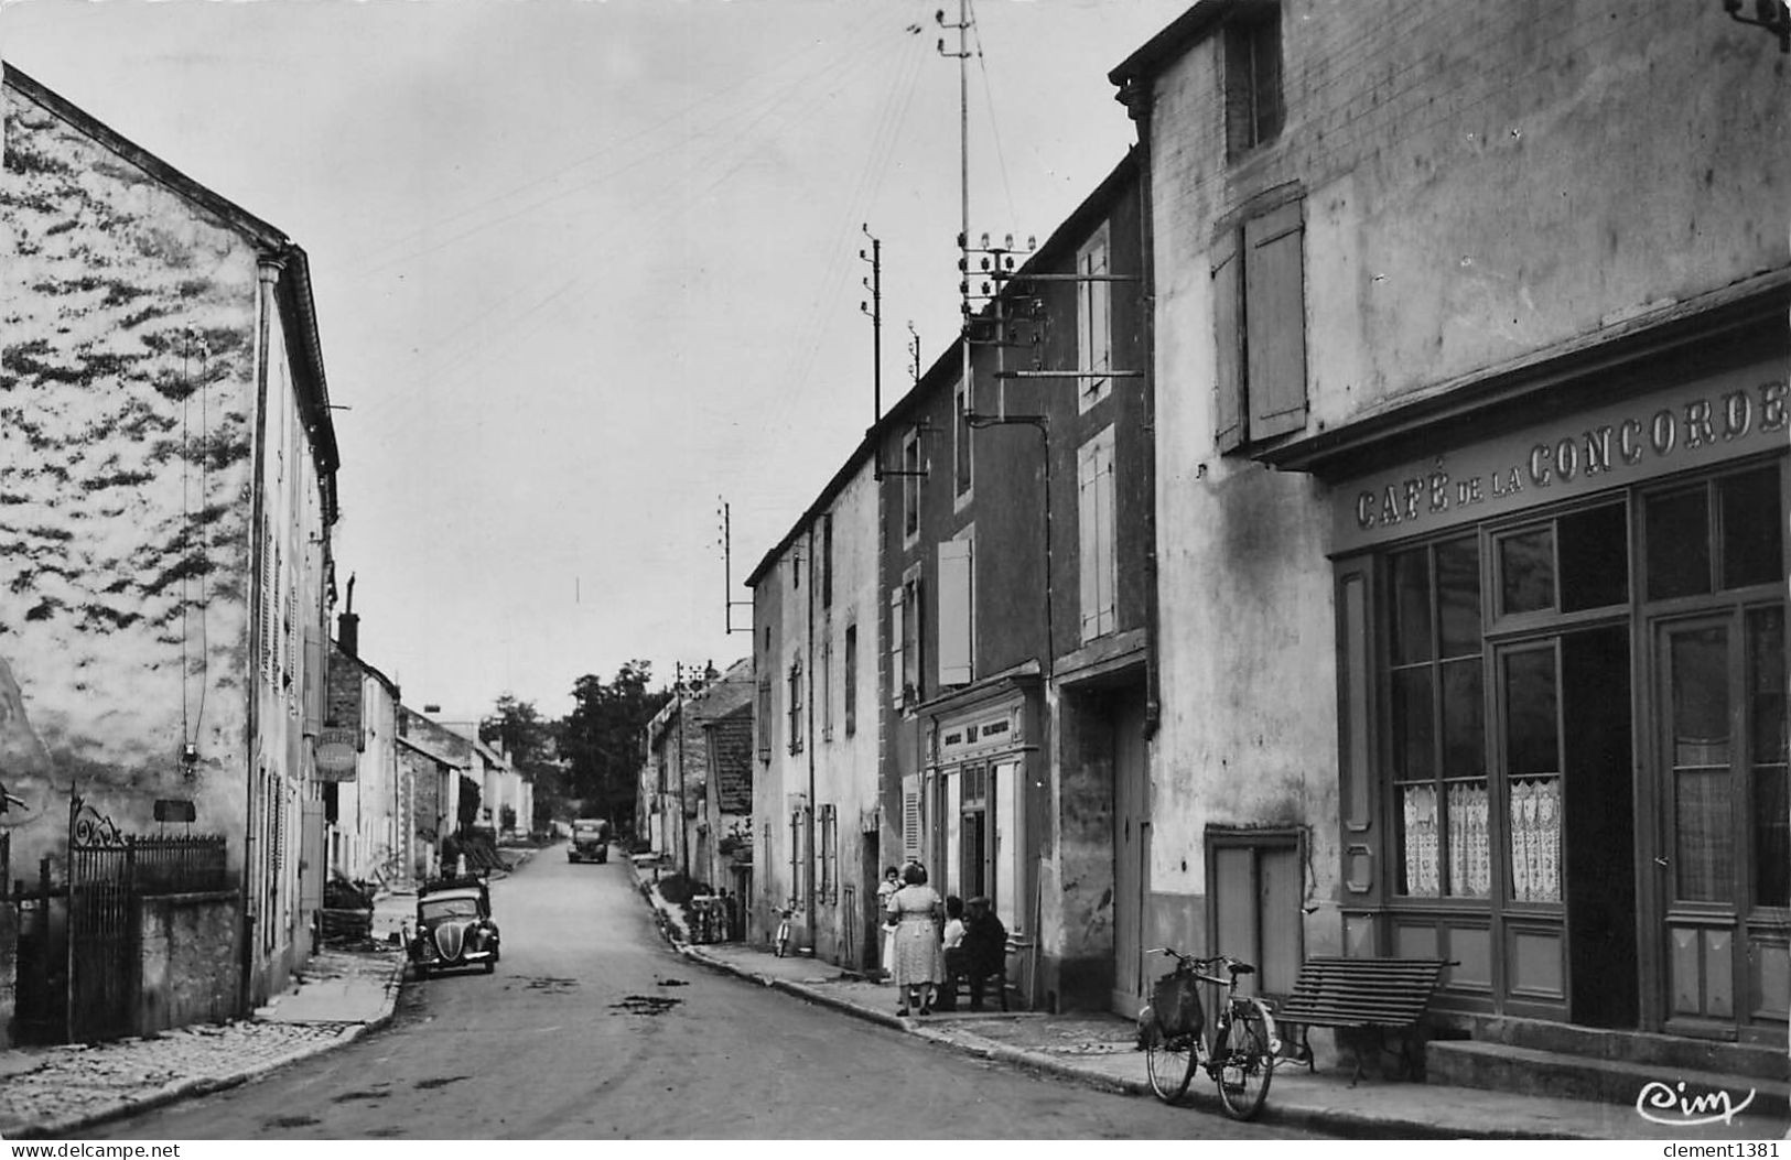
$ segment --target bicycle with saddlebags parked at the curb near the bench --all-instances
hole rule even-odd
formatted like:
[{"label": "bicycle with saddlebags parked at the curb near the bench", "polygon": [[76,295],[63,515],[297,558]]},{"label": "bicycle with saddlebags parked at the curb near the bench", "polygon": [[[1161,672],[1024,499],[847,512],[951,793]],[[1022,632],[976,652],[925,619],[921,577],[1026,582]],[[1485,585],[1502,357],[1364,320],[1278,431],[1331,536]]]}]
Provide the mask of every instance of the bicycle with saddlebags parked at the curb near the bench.
[{"label": "bicycle with saddlebags parked at the curb near the bench", "polygon": [[[1275,1017],[1268,1006],[1238,994],[1238,979],[1255,974],[1255,967],[1229,954],[1195,958],[1173,947],[1153,947],[1148,954],[1175,958],[1175,968],[1157,981],[1152,1002],[1137,1013],[1150,1088],[1157,1099],[1173,1105],[1187,1090],[1195,1069],[1202,1067],[1218,1087],[1225,1113],[1239,1121],[1252,1119],[1268,1099],[1268,1083],[1275,1078],[1275,1056],[1281,1051]],[[1213,974],[1220,968],[1227,977]],[[1225,988],[1211,1047],[1204,1042],[1202,983]]]}]

